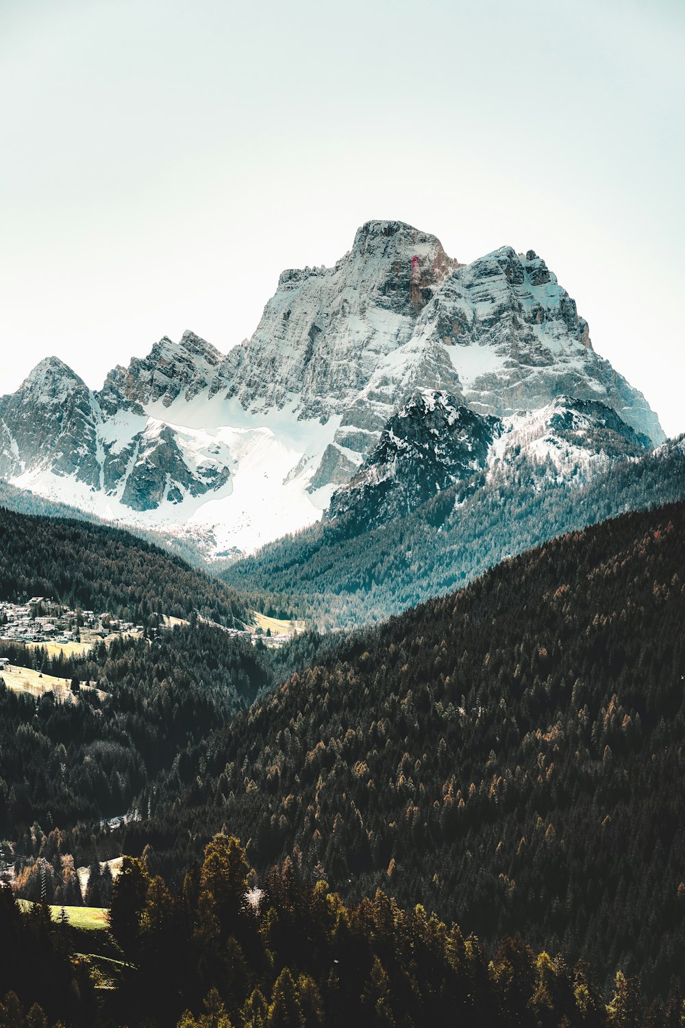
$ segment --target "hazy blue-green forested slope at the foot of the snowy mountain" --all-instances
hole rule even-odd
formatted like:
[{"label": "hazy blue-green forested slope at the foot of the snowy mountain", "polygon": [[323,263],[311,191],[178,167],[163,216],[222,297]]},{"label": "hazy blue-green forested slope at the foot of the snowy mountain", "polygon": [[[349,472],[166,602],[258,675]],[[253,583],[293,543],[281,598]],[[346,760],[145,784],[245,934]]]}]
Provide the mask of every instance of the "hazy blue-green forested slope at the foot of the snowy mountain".
[{"label": "hazy blue-green forested slope at the foot of the snowy mountain", "polygon": [[281,602],[321,629],[350,628],[461,588],[556,536],[681,500],[683,438],[571,484],[554,465],[521,458],[506,474],[477,476],[371,530],[359,530],[352,511],[284,537],[221,577],[237,589],[283,594]]}]

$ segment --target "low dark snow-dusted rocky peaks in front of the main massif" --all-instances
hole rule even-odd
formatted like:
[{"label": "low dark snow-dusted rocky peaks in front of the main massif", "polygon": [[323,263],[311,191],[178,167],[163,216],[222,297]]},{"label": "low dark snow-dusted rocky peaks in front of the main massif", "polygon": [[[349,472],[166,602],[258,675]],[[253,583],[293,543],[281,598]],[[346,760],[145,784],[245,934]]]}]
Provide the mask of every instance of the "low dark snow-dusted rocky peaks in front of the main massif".
[{"label": "low dark snow-dusted rocky peaks in front of the main massif", "polygon": [[[540,410],[479,414],[447,393],[421,390],[387,423],[351,481],[334,492],[327,521],[355,535],[404,517],[452,485],[469,491],[513,479],[521,458],[578,485],[617,461],[638,460],[649,440],[606,404],[560,396]],[[482,476],[478,473],[482,472]]]}]

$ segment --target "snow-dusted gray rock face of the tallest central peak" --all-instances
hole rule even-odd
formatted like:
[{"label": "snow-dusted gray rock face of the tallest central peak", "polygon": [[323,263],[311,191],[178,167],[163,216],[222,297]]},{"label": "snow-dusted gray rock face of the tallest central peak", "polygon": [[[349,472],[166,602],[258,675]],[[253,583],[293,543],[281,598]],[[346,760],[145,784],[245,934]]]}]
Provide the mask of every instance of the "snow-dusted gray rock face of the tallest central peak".
[{"label": "snow-dusted gray rock face of the tallest central peak", "polygon": [[302,417],[341,413],[378,361],[411,338],[454,266],[434,235],[368,222],[335,267],[282,272],[257,331],[228,354],[212,394],[236,397],[244,410],[294,404]]}]

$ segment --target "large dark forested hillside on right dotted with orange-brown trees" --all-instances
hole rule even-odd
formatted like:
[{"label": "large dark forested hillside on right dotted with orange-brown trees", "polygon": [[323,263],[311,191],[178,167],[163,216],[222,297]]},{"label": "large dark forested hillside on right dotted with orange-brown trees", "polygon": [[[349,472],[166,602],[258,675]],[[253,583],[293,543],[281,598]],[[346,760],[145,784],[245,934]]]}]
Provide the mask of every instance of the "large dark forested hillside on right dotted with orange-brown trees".
[{"label": "large dark forested hillside on right dotted with orange-brown trees", "polygon": [[344,897],[682,987],[685,505],[505,561],[343,639],[145,791],[126,852],[211,831]]}]

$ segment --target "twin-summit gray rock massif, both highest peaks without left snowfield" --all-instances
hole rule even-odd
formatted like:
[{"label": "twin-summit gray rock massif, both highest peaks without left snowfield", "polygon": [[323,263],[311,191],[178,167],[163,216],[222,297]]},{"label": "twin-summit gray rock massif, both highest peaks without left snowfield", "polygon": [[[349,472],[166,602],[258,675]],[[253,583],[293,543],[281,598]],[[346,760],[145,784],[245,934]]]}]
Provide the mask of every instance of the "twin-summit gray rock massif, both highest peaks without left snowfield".
[{"label": "twin-summit gray rock massif, both highest peaks without left snowfield", "polygon": [[595,353],[575,301],[532,250],[503,247],[459,265],[435,236],[403,222],[368,222],[333,268],[283,271],[210,395],[237,398],[257,416],[283,407],[322,423],[338,416],[335,443],[364,457],[418,389],[497,416],[560,394],[601,400],[654,444],[663,439],[643,395]]}]

